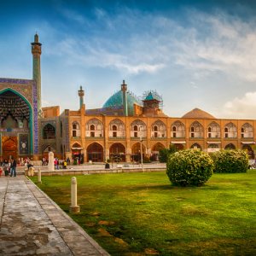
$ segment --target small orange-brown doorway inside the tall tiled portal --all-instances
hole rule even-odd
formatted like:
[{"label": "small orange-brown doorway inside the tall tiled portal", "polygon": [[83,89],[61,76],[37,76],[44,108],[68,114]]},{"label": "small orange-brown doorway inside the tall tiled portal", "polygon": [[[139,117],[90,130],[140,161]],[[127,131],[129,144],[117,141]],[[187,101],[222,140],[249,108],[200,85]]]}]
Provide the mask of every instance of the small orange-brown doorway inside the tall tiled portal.
[{"label": "small orange-brown doorway inside the tall tiled portal", "polygon": [[17,159],[17,137],[3,137],[3,160]]}]

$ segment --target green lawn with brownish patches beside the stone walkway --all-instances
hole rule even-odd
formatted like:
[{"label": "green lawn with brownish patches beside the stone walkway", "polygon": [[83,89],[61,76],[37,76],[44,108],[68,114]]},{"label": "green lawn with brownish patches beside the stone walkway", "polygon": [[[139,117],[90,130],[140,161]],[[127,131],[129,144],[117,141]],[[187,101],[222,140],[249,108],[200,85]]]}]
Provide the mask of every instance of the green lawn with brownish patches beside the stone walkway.
[{"label": "green lawn with brownish patches beside the stone walkway", "polygon": [[[166,173],[77,176],[70,214],[111,255],[256,255],[256,171],[172,187]],[[37,177],[33,177],[36,181]],[[71,177],[38,186],[65,212]]]}]

